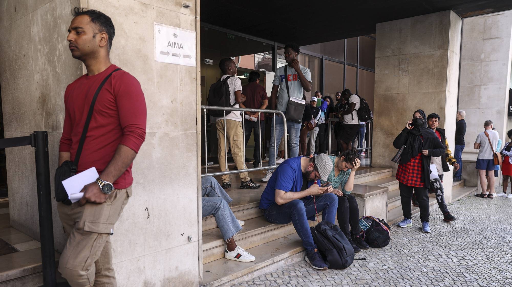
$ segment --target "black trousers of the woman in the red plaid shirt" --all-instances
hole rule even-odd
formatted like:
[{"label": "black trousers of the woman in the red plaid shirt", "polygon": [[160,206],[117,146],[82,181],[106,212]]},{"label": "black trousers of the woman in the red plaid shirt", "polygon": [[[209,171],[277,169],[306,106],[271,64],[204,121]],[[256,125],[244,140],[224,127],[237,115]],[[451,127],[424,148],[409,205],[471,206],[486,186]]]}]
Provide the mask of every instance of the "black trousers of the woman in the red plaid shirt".
[{"label": "black trousers of the woman in the red plaid shirt", "polygon": [[411,208],[411,197],[414,193],[416,195],[416,199],[418,200],[419,205],[419,217],[421,222],[426,221],[429,222],[430,217],[430,204],[429,204],[429,190],[424,187],[410,187],[406,186],[400,182],[400,197],[402,201],[402,212],[403,217],[412,218],[412,208]]}]

